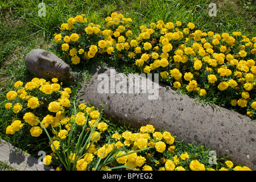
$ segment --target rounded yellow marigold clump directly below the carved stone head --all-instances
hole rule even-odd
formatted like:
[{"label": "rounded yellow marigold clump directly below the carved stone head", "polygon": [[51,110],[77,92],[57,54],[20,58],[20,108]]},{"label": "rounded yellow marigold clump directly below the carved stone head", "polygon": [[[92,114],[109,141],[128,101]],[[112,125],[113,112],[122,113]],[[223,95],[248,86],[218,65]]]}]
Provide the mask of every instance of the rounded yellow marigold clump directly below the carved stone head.
[{"label": "rounded yellow marigold clump directly below the carved stone head", "polygon": [[[71,89],[61,90],[61,85],[57,82],[57,78],[52,78],[52,83],[43,78],[33,78],[24,87],[23,82],[15,82],[16,90],[11,90],[6,94],[6,98],[10,102],[5,104],[5,107],[9,110],[13,109],[13,113],[18,114],[16,117],[23,118],[23,120],[16,120],[7,126],[6,134],[14,134],[15,131],[22,129],[23,125],[28,124],[32,137],[39,137],[43,133],[43,126],[46,128],[49,125],[57,127],[60,122],[63,122],[65,117],[62,113],[70,106],[68,98]],[[58,96],[59,99],[52,101],[51,94],[55,94],[55,97]],[[14,124],[18,121],[20,122],[19,127]],[[22,123],[23,121],[24,123]],[[38,126],[39,121],[43,126]]]}]

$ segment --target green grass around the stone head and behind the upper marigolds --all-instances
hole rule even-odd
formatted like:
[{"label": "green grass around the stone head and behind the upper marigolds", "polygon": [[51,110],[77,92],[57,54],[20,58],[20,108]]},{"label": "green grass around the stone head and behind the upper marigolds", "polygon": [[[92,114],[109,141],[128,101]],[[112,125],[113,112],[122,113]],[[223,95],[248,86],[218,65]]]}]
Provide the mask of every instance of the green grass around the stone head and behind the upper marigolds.
[{"label": "green grass around the stone head and behind the upper marigolds", "polygon": [[[172,1],[172,0],[116,0],[116,1],[44,1],[46,16],[39,16],[38,7],[41,1],[14,0],[0,2],[0,137],[5,139],[5,113],[3,103],[6,93],[12,88],[15,81],[23,82],[33,77],[24,65],[24,57],[35,48],[46,49],[57,54],[53,44],[53,34],[60,31],[61,23],[71,16],[85,14],[93,23],[101,24],[104,18],[112,12],[129,14],[134,20],[135,27],[162,19],[164,22],[193,22],[196,28],[203,31],[233,32],[241,31],[250,38],[255,36],[255,1]],[[216,3],[217,16],[209,16],[209,3]],[[102,63],[98,60],[99,63]],[[90,63],[86,66],[75,68],[82,78],[90,77],[90,70],[96,65]],[[105,64],[105,63],[102,63]],[[134,72],[130,67],[122,66],[125,72]],[[81,80],[79,82],[81,84]],[[81,85],[71,85],[77,98]],[[13,144],[17,147],[27,147],[27,142],[14,138]],[[31,144],[30,149],[36,144]]]}]

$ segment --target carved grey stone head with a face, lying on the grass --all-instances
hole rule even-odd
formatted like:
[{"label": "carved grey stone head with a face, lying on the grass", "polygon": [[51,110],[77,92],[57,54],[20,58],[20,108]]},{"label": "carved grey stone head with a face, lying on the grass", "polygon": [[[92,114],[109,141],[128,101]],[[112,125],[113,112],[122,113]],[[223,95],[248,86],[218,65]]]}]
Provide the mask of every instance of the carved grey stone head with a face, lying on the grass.
[{"label": "carved grey stone head with a face, lying on the grass", "polygon": [[25,64],[35,76],[58,78],[60,81],[72,80],[70,66],[55,54],[43,49],[32,49],[25,57]]}]

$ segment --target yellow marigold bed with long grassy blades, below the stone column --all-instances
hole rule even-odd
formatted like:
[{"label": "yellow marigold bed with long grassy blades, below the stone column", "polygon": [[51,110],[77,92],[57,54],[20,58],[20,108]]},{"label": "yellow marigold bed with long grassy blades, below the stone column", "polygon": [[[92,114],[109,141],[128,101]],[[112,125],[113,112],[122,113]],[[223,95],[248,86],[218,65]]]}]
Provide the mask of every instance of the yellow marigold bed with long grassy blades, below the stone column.
[{"label": "yellow marigold bed with long grassy blades, below the stone column", "polygon": [[185,145],[152,125],[139,131],[118,128],[103,110],[72,105],[71,93],[56,78],[15,82],[6,94],[6,114],[13,118],[6,119],[6,134],[37,141],[36,147],[42,146],[47,154],[44,164],[56,170],[250,170],[234,167],[227,158],[210,163],[210,150],[204,146]]}]

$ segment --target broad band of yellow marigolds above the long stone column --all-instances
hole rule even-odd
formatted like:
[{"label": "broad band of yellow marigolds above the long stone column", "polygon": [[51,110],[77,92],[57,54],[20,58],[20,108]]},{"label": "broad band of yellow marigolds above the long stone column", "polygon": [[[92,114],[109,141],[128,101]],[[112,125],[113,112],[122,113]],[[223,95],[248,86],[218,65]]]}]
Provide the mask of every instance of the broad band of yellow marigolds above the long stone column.
[{"label": "broad band of yellow marigolds above the long stone column", "polygon": [[[158,20],[136,28],[131,26],[132,19],[118,13],[105,19],[106,26],[88,23],[84,15],[78,16],[79,19],[69,18],[68,23],[61,25],[61,34],[55,35],[55,41],[71,56],[73,64],[98,53],[113,55],[144,73],[160,73],[162,80],[189,94],[208,97],[212,93],[220,97],[218,102],[225,94],[226,107],[247,111],[247,115],[255,117],[256,37],[250,39],[241,32],[203,32],[192,22],[180,21]],[[75,27],[84,30],[75,34]],[[75,39],[71,40],[71,36]],[[195,81],[197,85],[193,84]],[[249,92],[246,99],[241,97],[245,91]]]}]

